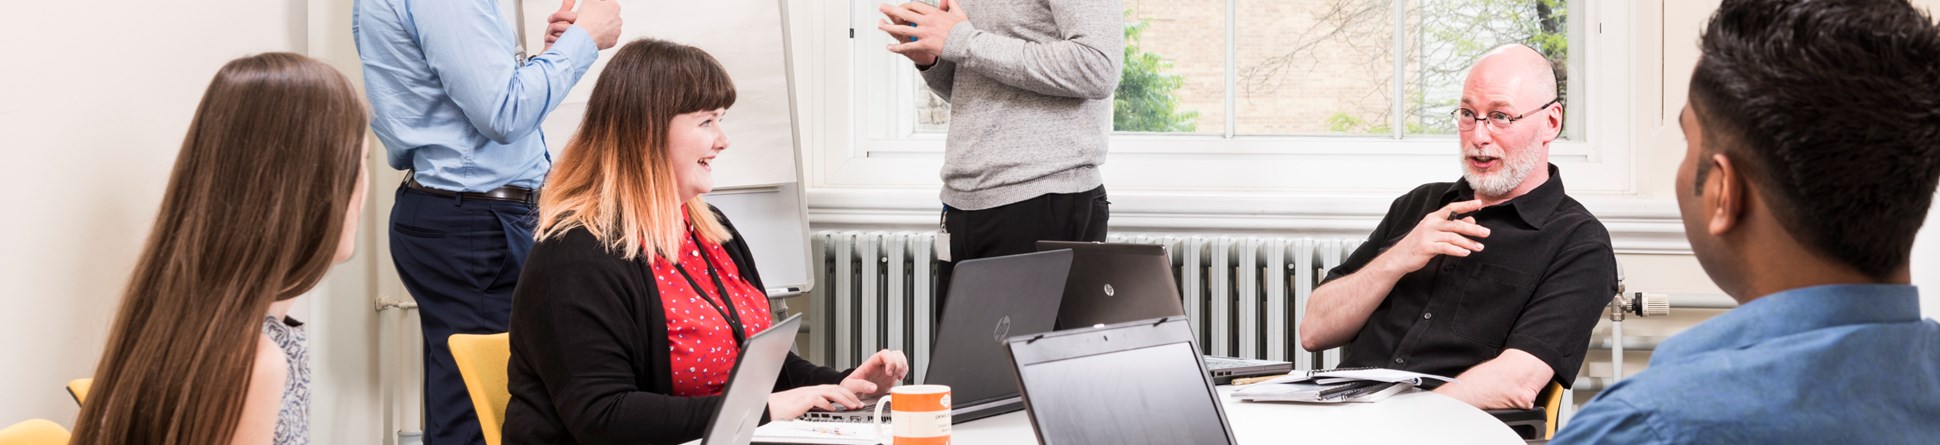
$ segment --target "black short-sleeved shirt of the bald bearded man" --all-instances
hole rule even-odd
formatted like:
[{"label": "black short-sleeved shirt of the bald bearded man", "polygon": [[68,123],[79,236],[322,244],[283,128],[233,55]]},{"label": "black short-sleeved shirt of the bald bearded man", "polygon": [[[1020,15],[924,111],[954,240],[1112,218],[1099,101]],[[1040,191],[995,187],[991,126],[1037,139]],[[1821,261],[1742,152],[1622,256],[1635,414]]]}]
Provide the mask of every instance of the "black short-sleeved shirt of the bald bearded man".
[{"label": "black short-sleeved shirt of the bald bearded man", "polygon": [[[1395,198],[1368,243],[1354,249],[1325,282],[1354,274],[1399,243],[1430,212],[1472,200],[1467,181],[1430,183]],[[1583,204],[1550,181],[1509,202],[1482,208],[1488,227],[1480,253],[1436,257],[1395,284],[1341,365],[1393,367],[1455,377],[1505,348],[1529,352],[1569,387],[1589,350],[1589,332],[1616,295],[1610,231]]]}]

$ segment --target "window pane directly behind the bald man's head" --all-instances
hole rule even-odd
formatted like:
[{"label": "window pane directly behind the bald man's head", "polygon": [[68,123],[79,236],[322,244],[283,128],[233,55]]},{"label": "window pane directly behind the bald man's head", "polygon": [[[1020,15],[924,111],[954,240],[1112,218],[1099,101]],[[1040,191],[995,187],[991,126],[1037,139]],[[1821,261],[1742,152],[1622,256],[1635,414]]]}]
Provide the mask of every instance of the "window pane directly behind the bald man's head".
[{"label": "window pane directly behind the bald man's head", "polygon": [[[1416,0],[1406,76],[1408,134],[1455,134],[1449,113],[1461,101],[1469,66],[1494,47],[1523,43],[1556,66],[1558,93],[1569,97],[1569,23],[1566,0]],[[1536,107],[1531,103],[1527,107]],[[1566,109],[1583,103],[1566,101]],[[1519,115],[1523,111],[1507,111]],[[1566,136],[1571,128],[1564,128]]]}]

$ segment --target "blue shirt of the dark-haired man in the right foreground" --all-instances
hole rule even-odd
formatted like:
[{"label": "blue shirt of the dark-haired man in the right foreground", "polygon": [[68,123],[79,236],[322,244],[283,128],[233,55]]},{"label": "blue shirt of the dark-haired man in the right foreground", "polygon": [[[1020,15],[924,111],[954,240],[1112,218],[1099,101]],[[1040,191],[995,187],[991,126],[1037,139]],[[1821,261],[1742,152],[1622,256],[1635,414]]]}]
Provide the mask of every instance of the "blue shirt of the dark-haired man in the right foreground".
[{"label": "blue shirt of the dark-haired man in the right foreground", "polygon": [[1670,340],[1552,443],[1940,443],[1940,323],[1913,286],[1771,293]]}]

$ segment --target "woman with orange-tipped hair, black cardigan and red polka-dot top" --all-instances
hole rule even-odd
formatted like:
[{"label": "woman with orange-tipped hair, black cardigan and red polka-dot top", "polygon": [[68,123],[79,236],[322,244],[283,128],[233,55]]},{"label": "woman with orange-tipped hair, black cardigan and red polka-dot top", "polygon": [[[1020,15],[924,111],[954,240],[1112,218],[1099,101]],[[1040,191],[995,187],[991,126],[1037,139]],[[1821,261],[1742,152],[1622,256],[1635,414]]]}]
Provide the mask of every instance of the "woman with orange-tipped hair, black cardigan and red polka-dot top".
[{"label": "woman with orange-tipped hair, black cardigan and red polka-dot top", "polygon": [[[545,183],[512,295],[504,443],[681,443],[706,429],[739,344],[774,323],[747,243],[698,198],[733,99],[693,47],[640,39],[607,62]],[[863,408],[906,373],[902,352],[850,371],[790,354],[762,422]]]}]

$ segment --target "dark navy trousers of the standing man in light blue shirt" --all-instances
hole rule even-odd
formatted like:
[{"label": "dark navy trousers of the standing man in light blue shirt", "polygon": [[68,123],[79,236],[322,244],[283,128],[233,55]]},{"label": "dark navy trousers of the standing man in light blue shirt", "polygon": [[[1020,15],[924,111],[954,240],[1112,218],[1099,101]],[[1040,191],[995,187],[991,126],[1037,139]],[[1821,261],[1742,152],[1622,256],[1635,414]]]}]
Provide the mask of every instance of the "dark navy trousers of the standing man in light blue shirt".
[{"label": "dark navy trousers of the standing man in light blue shirt", "polygon": [[398,187],[390,257],[425,330],[425,443],[483,445],[452,363],[452,334],[506,332],[512,286],[532,251],[534,204],[450,198]]}]

